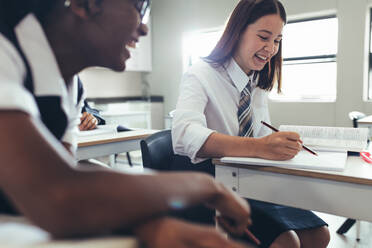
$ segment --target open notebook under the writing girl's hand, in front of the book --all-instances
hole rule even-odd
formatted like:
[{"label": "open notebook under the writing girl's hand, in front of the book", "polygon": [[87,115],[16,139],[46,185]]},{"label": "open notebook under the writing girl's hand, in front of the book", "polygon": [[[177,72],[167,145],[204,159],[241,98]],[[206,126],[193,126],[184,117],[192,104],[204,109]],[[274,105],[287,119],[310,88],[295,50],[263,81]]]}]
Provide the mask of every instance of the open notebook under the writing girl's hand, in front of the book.
[{"label": "open notebook under the writing girl's hand, in front of the book", "polygon": [[343,171],[345,169],[346,152],[317,151],[317,153],[318,156],[315,156],[307,151],[300,151],[296,157],[286,161],[247,157],[223,157],[221,158],[221,162],[324,171]]}]

